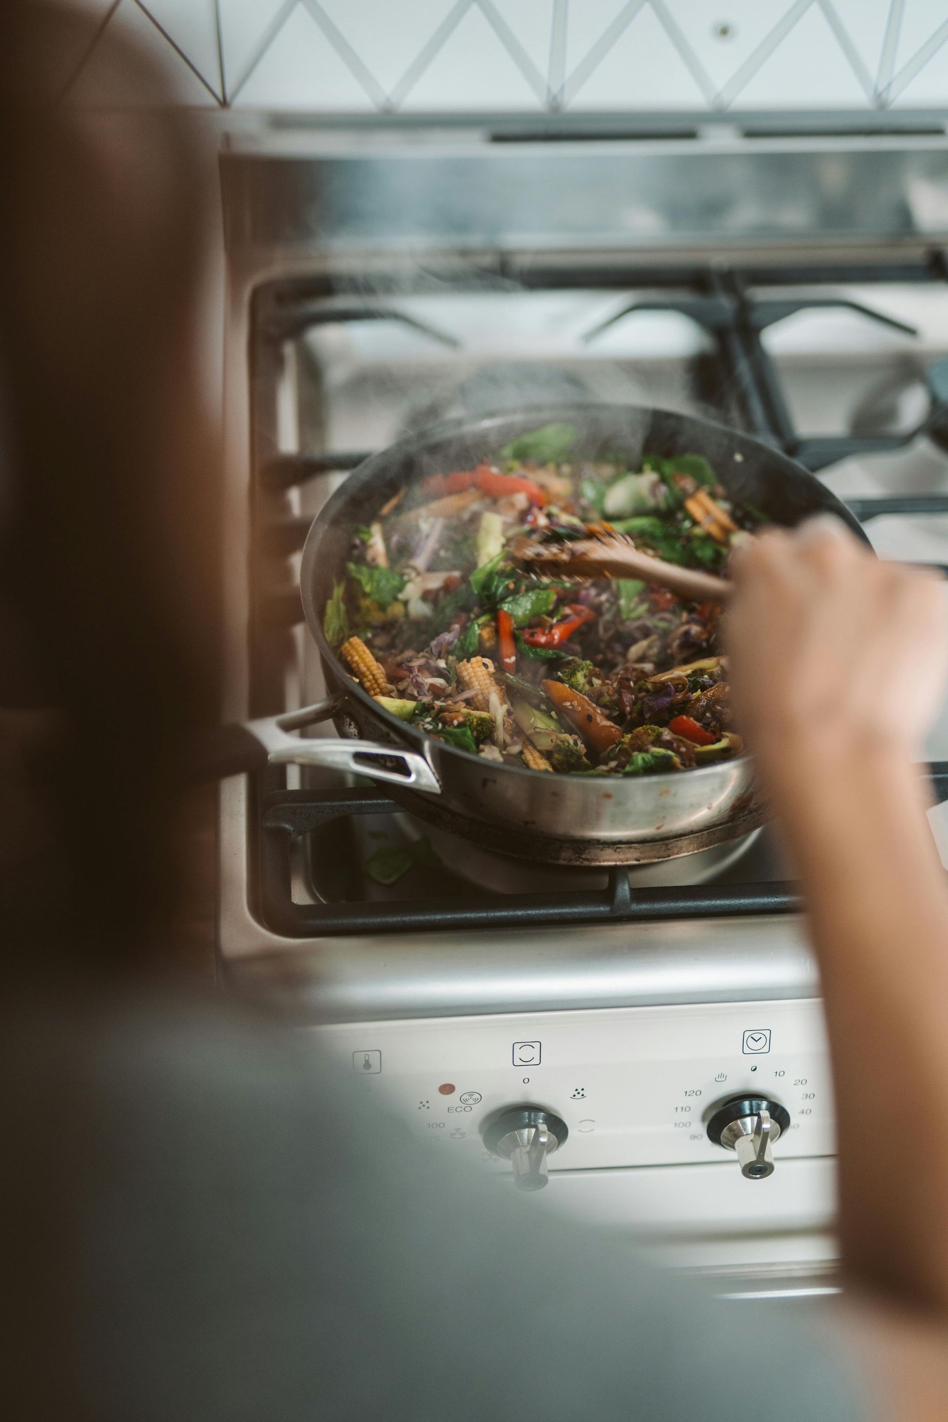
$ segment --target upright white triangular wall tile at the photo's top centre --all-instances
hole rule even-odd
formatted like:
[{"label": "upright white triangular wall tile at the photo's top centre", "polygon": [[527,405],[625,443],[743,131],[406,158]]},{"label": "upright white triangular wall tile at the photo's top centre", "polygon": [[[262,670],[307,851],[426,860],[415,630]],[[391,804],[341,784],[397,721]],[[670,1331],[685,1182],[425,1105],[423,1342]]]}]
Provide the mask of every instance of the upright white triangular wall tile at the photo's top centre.
[{"label": "upright white triangular wall tile at the photo's top centre", "polygon": [[399,107],[445,112],[539,109],[543,95],[510,57],[483,10],[470,6]]}]

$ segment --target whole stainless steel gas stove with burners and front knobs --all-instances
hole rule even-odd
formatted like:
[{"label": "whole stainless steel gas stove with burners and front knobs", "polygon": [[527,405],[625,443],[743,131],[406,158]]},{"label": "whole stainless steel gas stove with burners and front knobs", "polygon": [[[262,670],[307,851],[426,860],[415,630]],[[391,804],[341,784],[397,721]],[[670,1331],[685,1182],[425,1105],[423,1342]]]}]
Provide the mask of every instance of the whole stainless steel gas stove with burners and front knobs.
[{"label": "whole stainless steel gas stove with burners and front knobs", "polygon": [[[225,161],[229,718],[324,695],[306,532],[367,454],[446,414],[588,398],[709,415],[820,472],[881,556],[948,563],[944,135],[310,145]],[[930,755],[939,801],[948,710]],[[537,1209],[644,1231],[765,1295],[834,1287],[819,984],[773,829],[596,869],[515,848],[351,776],[235,778],[222,964],[419,1150],[499,1187],[549,1180]]]}]

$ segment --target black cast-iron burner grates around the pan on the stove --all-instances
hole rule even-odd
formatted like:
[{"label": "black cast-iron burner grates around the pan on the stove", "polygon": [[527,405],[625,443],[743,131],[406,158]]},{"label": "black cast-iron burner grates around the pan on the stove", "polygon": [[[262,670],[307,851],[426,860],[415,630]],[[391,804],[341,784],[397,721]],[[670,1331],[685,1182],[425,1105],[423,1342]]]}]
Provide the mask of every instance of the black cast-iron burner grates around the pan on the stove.
[{"label": "black cast-iron burner grates around the pan on the stove", "polygon": [[[416,290],[431,290],[438,273],[418,269]],[[792,311],[807,307],[849,306],[874,320],[891,323],[868,307],[837,297],[758,299],[755,287],[840,287],[873,283],[944,283],[948,276],[939,249],[893,262],[807,262],[795,264],[669,263],[645,267],[632,260],[569,262],[561,266],[497,255],[483,259],[476,279],[468,286],[458,269],[443,276],[458,292],[519,290],[564,292],[613,289],[617,293],[648,289],[644,300],[631,301],[611,319],[634,319],[637,311],[672,310],[696,321],[711,341],[712,353],[695,367],[699,398],[706,412],[716,411],[726,424],[736,424],[775,448],[799,459],[812,471],[823,469],[853,455],[894,451],[924,432],[948,448],[948,361],[927,373],[931,412],[911,434],[840,435],[807,438],[795,429],[762,333]],[[493,286],[492,286],[493,283]],[[298,587],[290,559],[306,539],[310,519],[296,515],[287,491],[313,478],[355,468],[374,451],[311,451],[281,454],[277,444],[277,385],[283,351],[306,331],[340,321],[391,320],[411,323],[392,299],[412,294],[412,277],[404,269],[374,273],[372,294],[365,280],[345,272],[333,276],[290,277],[257,289],[252,306],[252,547],[249,559],[250,619],[249,670],[252,715],[286,710],[286,668],[296,650],[293,629],[303,621]],[[664,294],[667,293],[667,296]],[[442,346],[453,344],[443,333],[425,327]],[[598,330],[587,333],[596,340]],[[880,515],[944,515],[948,495],[895,495],[850,499],[856,516],[866,522]],[[935,796],[948,798],[948,762],[931,768]],[[385,933],[421,929],[473,929],[564,923],[635,921],[645,919],[694,919],[729,914],[773,914],[799,907],[793,883],[762,879],[753,883],[691,884],[681,887],[630,887],[621,867],[608,872],[601,890],[536,893],[446,893],[391,902],[298,903],[293,900],[293,853],[325,825],[343,825],[354,816],[401,812],[384,793],[362,789],[287,791],[283,771],[267,769],[254,776],[249,796],[249,860],[254,912],[264,926],[291,937],[345,933]],[[345,877],[343,875],[343,877]]]}]

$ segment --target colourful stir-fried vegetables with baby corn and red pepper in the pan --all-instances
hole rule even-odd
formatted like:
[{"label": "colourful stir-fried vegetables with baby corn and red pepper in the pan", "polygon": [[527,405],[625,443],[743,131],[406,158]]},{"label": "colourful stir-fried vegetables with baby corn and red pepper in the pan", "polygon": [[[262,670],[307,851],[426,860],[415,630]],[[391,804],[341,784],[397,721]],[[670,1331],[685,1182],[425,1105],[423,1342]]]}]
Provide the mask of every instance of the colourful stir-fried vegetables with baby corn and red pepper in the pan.
[{"label": "colourful stir-fried vegetables with baby corn and red pepper in the pan", "polygon": [[542,774],[654,775],[740,752],[718,613],[632,579],[524,572],[536,542],[605,522],[667,562],[725,570],[763,522],[702,455],[571,459],[550,424],[497,462],[394,493],[357,530],[324,610],[378,707],[469,755]]}]

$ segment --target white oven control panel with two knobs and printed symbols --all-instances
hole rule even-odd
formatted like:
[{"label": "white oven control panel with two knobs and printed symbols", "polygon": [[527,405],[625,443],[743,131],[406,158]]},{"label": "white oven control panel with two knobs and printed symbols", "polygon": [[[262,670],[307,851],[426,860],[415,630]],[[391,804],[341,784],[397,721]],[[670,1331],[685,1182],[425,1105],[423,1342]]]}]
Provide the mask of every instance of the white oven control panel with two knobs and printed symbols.
[{"label": "white oven control panel with two knobs and printed symbols", "polygon": [[[361,1089],[405,1119],[419,1149],[460,1153],[499,1173],[512,1170],[510,1140],[497,1138],[499,1152],[492,1128],[517,1111],[564,1128],[543,1160],[550,1177],[713,1162],[738,1182],[766,1182],[782,1160],[833,1152],[829,1054],[812,998],[313,1031]],[[524,1152],[532,1142],[523,1138]]]}]

